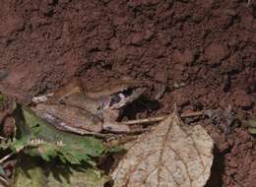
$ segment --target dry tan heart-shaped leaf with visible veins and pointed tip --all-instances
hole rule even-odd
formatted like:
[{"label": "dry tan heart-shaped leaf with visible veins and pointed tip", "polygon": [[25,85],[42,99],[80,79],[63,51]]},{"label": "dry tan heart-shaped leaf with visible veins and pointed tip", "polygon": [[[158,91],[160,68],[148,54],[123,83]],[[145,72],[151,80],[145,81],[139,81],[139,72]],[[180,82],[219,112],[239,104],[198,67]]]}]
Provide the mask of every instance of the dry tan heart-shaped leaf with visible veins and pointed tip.
[{"label": "dry tan heart-shaped leaf with visible veins and pointed tip", "polygon": [[202,187],[211,174],[212,138],[176,112],[143,134],[113,171],[114,187]]}]

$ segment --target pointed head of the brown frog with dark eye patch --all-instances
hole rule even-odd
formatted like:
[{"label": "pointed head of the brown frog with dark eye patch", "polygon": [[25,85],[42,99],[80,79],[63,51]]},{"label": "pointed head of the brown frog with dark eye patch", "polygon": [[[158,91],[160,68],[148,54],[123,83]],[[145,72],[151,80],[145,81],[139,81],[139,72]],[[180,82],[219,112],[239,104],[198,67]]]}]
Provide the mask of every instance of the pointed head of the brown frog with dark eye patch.
[{"label": "pointed head of the brown frog with dark eye patch", "polygon": [[92,93],[87,92],[87,95],[99,101],[101,110],[115,110],[136,100],[147,88],[145,83],[125,79],[109,83]]}]

